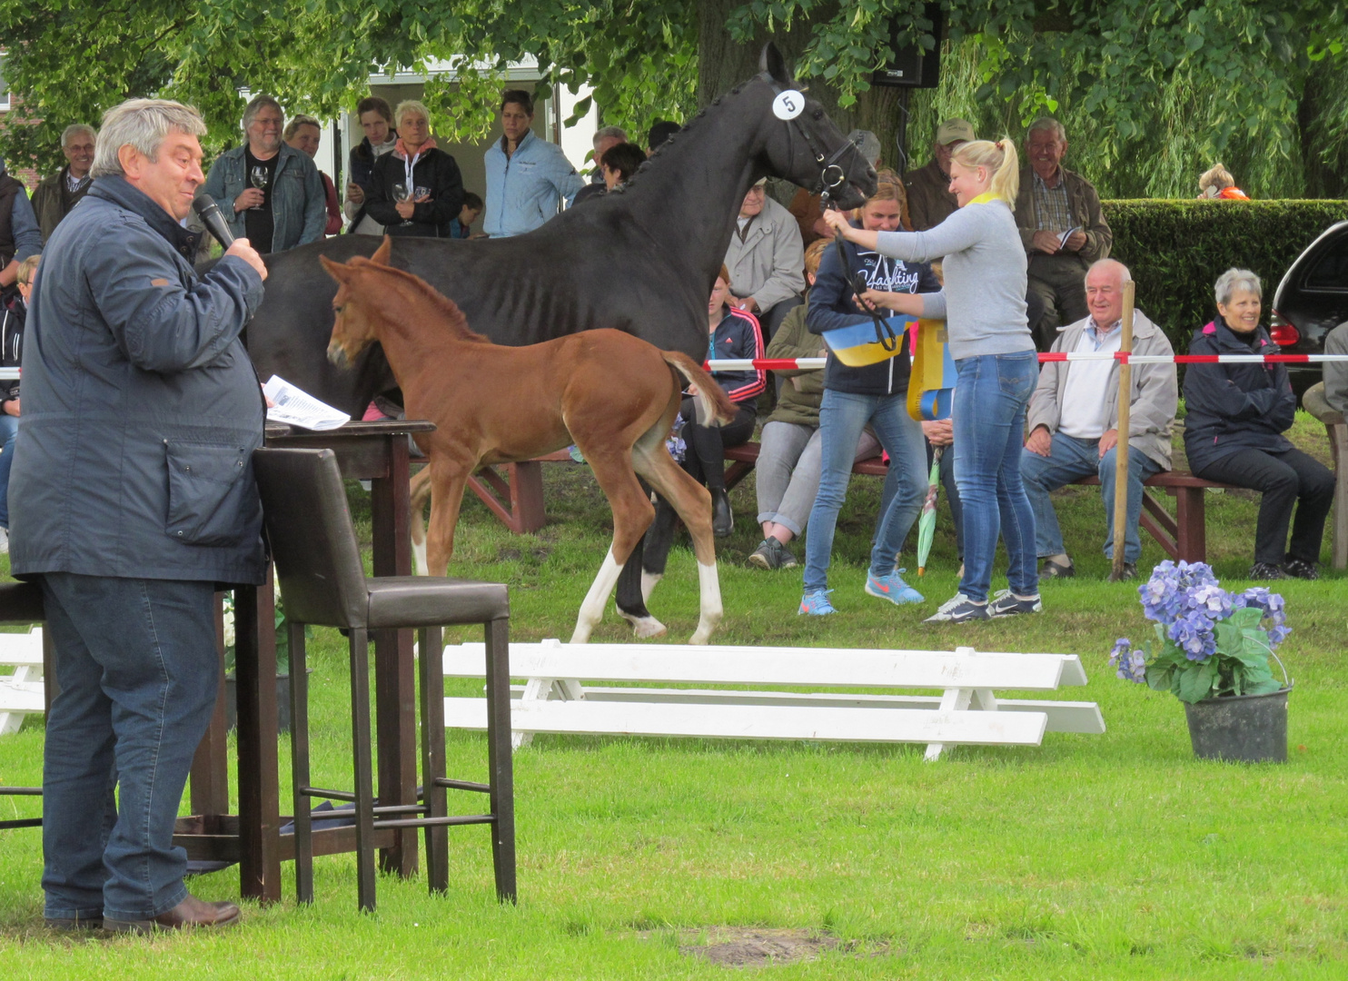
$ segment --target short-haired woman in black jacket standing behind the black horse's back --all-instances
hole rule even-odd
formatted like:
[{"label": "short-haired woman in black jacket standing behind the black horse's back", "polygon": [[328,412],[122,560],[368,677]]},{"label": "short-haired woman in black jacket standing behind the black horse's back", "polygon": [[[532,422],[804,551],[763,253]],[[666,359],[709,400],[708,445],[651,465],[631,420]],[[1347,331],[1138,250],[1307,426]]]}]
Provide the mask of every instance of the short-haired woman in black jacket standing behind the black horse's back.
[{"label": "short-haired woman in black jacket standing behind the black horse's back", "polygon": [[464,206],[464,178],[454,158],[435,148],[430,113],[421,102],[399,102],[394,112],[398,144],[375,160],[365,212],[388,234],[450,237]]}]

